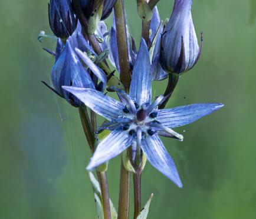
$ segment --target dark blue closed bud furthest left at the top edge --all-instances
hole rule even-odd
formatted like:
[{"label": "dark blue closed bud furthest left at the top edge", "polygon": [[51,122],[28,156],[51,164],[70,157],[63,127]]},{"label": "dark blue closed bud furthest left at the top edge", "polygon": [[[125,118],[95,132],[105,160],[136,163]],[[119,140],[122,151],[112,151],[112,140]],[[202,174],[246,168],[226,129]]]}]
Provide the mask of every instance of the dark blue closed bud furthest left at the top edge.
[{"label": "dark blue closed bud furthest left at the top edge", "polygon": [[57,37],[68,38],[76,29],[77,22],[70,0],[50,0],[49,23]]}]

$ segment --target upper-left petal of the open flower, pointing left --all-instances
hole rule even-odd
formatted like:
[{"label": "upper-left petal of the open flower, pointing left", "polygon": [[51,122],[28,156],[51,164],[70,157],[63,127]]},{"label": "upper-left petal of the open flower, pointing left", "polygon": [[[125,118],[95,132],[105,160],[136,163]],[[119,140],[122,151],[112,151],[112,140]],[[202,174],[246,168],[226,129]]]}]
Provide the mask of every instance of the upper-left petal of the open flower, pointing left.
[{"label": "upper-left petal of the open flower, pointing left", "polygon": [[107,95],[104,95],[96,89],[77,88],[63,86],[68,92],[75,95],[87,107],[106,118],[107,120],[114,120],[122,115],[124,104],[116,101]]}]

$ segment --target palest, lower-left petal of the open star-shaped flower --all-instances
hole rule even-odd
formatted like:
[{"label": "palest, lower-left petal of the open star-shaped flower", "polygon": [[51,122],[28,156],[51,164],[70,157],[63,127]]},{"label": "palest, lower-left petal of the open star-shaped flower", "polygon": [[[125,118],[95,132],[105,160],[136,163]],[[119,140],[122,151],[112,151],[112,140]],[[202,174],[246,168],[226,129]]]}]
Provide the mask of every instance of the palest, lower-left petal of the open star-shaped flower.
[{"label": "palest, lower-left petal of the open star-shaped flower", "polygon": [[129,135],[128,131],[123,131],[122,129],[114,130],[97,146],[87,170],[93,170],[103,162],[116,157],[126,150],[132,144],[132,141],[133,137]]}]

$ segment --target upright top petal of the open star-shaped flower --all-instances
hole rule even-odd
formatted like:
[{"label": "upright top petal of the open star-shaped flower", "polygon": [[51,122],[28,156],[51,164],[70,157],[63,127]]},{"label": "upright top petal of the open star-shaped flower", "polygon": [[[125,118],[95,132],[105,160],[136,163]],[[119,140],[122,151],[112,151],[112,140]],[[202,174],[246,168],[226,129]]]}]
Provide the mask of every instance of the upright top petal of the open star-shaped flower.
[{"label": "upright top petal of the open star-shaped flower", "polygon": [[152,71],[147,44],[142,38],[136,62],[133,67],[130,97],[139,105],[151,103]]}]

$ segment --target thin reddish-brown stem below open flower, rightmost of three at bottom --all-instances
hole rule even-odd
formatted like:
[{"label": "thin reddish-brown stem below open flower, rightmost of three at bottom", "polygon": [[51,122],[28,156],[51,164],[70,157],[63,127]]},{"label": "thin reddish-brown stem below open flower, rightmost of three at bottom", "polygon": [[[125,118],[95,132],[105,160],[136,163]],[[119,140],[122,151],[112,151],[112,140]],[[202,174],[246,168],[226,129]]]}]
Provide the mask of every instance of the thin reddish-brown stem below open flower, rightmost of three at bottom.
[{"label": "thin reddish-brown stem below open flower, rightmost of three at bottom", "polygon": [[142,178],[142,170],[137,170],[136,173],[133,174],[133,190],[134,190],[134,219],[139,215],[142,204],[141,204],[141,178]]}]

